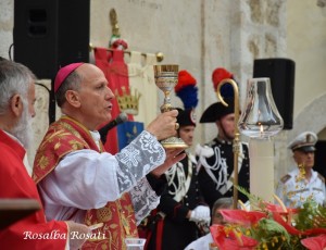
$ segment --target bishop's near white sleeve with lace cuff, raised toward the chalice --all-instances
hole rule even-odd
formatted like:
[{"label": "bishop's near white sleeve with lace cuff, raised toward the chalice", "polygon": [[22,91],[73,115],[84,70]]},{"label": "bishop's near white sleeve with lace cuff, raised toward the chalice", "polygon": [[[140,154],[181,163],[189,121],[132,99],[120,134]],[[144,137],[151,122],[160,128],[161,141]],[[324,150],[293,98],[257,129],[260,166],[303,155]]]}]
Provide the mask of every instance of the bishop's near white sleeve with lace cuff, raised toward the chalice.
[{"label": "bishop's near white sleeve with lace cuff, raised toward the chalice", "polygon": [[142,132],[115,155],[90,149],[66,154],[39,184],[39,190],[48,204],[97,209],[129,191],[164,160],[161,143]]}]

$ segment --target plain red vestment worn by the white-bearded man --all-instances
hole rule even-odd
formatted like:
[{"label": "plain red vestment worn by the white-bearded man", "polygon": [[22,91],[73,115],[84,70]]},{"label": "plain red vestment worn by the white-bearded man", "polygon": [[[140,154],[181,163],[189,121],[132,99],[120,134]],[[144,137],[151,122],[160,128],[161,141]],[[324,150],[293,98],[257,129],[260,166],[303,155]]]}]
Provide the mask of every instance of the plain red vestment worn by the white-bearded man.
[{"label": "plain red vestment worn by the white-bearded man", "polygon": [[[0,130],[0,198],[36,199],[37,188],[28,175],[23,159],[25,149]],[[67,239],[64,222],[46,222],[43,210],[0,230],[0,249],[64,249]]]}]

